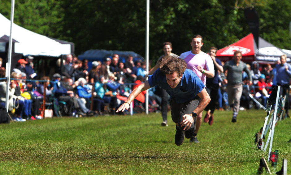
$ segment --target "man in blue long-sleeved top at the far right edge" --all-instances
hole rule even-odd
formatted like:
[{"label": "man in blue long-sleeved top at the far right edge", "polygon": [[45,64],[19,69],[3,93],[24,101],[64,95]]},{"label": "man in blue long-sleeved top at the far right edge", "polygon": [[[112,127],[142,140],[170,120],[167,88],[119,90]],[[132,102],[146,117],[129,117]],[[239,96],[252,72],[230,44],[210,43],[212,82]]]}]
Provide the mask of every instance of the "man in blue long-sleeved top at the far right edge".
[{"label": "man in blue long-sleeved top at the far right edge", "polygon": [[290,90],[290,77],[291,77],[291,66],[286,62],[287,55],[283,54],[280,56],[280,65],[276,65],[277,69],[277,85],[280,85],[280,95],[286,96],[284,109],[285,114],[289,117],[289,90]]}]

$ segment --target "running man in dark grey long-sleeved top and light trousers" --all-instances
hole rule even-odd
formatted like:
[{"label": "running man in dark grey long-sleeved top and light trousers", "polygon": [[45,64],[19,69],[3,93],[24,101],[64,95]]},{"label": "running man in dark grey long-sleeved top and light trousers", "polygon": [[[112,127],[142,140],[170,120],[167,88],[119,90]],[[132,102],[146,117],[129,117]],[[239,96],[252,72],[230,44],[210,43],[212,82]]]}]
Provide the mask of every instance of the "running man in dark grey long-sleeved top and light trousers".
[{"label": "running man in dark grey long-sleeved top and light trousers", "polygon": [[227,77],[222,74],[224,83],[227,84],[228,102],[233,104],[232,122],[237,122],[237,114],[240,108],[240,100],[242,93],[242,71],[248,74],[250,86],[253,84],[250,70],[244,62],[241,61],[241,51],[237,50],[233,54],[233,59],[226,62],[223,70],[228,71]]}]

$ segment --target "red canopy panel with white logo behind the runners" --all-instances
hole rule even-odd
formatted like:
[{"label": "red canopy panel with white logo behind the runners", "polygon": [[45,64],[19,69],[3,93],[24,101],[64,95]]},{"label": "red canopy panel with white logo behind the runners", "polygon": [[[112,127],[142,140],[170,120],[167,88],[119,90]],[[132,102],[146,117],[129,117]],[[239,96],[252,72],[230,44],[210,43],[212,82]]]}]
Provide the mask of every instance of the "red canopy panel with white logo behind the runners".
[{"label": "red canopy panel with white logo behind the runners", "polygon": [[236,43],[229,45],[228,47],[224,47],[219,49],[216,53],[216,56],[221,61],[229,61],[232,59],[233,53],[237,50],[240,50],[242,53],[241,61],[251,62],[255,60],[254,54],[254,36],[253,34],[248,34],[244,38],[238,40]]}]

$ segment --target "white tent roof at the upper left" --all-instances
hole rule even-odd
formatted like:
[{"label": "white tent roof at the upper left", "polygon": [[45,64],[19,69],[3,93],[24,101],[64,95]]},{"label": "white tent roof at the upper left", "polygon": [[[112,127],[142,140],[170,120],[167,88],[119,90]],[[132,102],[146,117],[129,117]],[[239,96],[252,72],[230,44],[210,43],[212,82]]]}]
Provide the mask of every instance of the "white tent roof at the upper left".
[{"label": "white tent roof at the upper left", "polygon": [[[10,36],[10,20],[0,13],[0,38]],[[34,56],[55,56],[71,53],[71,44],[61,44],[51,38],[24,29],[16,24],[12,26],[12,38],[15,39],[15,53]]]}]

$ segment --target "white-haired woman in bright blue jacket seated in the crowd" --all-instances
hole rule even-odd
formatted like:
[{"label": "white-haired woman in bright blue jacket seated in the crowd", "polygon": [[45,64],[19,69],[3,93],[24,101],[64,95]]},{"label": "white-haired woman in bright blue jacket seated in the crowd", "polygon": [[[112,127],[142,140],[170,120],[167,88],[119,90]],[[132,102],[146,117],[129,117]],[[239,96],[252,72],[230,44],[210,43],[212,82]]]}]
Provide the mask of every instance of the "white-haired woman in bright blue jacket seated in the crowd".
[{"label": "white-haired woman in bright blue jacket seated in the crowd", "polygon": [[[79,85],[77,86],[77,94],[80,98],[84,98],[86,101],[86,107],[90,109],[91,103],[91,96],[92,96],[92,89],[86,85],[86,79],[79,78],[78,79]],[[93,96],[96,96],[97,93],[93,92]],[[101,114],[101,105],[104,105],[104,101],[93,97],[93,111],[98,111]]]}]

